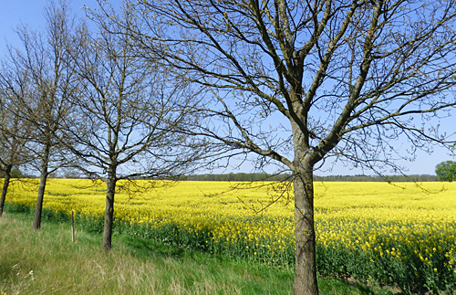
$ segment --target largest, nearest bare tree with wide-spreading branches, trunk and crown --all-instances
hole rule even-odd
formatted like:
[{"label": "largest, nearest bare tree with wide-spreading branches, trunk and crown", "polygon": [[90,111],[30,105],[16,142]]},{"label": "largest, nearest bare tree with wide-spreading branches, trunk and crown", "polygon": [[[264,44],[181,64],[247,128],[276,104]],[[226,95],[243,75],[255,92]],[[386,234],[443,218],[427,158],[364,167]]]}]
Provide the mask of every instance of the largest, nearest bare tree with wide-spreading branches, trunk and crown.
[{"label": "largest, nearest bare tree with wide-spreading branches, trunk and crown", "polygon": [[139,0],[127,1],[130,16],[119,24],[145,57],[160,56],[208,91],[211,100],[195,110],[207,121],[188,134],[292,172],[294,291],[317,294],[316,169],[329,157],[397,169],[395,159],[451,143],[437,126],[456,105],[455,5]]}]

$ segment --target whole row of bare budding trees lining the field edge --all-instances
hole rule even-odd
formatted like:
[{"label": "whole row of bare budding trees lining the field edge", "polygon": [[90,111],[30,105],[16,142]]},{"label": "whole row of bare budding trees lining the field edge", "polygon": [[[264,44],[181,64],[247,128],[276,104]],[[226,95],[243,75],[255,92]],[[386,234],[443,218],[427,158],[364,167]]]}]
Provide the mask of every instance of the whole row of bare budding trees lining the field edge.
[{"label": "whole row of bare budding trees lining the field edge", "polygon": [[107,184],[109,249],[119,180],[275,164],[294,187],[294,292],[317,294],[321,165],[400,174],[417,151],[454,154],[439,126],[456,106],[455,1],[98,0],[86,13],[50,2],[46,29],[19,26],[0,68],[4,192],[13,166],[39,174],[34,229],[62,169]]}]

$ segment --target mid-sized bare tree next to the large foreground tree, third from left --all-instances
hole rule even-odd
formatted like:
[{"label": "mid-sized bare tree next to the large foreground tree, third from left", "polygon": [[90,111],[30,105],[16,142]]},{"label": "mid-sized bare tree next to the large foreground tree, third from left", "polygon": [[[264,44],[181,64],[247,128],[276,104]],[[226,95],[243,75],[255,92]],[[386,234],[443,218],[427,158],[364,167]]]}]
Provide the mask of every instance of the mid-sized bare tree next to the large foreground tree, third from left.
[{"label": "mid-sized bare tree next to the large foreground tree, third from left", "polygon": [[74,100],[78,115],[67,121],[74,153],[85,174],[107,184],[102,247],[111,248],[114,196],[119,180],[161,179],[181,174],[198,155],[191,142],[173,132],[189,117],[192,91],[169,80],[165,68],[144,62],[125,34],[79,30],[74,50],[81,92]]}]

